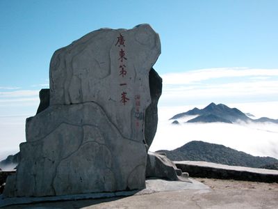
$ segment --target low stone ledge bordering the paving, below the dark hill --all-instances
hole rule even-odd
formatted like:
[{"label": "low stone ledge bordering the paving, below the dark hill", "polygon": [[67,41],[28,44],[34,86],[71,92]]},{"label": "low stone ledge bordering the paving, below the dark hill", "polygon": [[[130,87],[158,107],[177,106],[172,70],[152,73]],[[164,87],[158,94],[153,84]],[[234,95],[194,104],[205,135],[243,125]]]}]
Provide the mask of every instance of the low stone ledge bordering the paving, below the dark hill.
[{"label": "low stone ledge bordering the paving, below the dark hill", "polygon": [[278,183],[278,171],[276,170],[234,167],[201,161],[176,161],[174,163],[178,169],[188,172],[191,177]]}]

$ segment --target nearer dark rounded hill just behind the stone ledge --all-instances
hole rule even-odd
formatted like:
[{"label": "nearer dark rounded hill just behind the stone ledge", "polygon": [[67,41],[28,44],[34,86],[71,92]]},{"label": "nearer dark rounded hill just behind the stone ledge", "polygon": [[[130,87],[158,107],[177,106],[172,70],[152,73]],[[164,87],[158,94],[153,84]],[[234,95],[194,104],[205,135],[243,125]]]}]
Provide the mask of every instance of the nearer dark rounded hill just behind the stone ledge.
[{"label": "nearer dark rounded hill just behind the stone ledge", "polygon": [[204,141],[190,141],[174,150],[158,150],[156,152],[165,153],[173,161],[206,161],[254,168],[278,163],[274,157],[255,157],[220,144],[210,144]]}]

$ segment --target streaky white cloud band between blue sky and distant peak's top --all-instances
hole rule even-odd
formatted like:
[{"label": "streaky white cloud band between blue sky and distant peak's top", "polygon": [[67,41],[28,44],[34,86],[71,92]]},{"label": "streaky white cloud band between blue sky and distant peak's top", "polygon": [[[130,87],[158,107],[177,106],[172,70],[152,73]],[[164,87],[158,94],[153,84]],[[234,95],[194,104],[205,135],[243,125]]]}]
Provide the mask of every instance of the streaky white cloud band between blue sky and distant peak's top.
[{"label": "streaky white cloud band between blue sky and distant peak's top", "polygon": [[162,77],[162,106],[278,100],[278,69],[215,68]]}]

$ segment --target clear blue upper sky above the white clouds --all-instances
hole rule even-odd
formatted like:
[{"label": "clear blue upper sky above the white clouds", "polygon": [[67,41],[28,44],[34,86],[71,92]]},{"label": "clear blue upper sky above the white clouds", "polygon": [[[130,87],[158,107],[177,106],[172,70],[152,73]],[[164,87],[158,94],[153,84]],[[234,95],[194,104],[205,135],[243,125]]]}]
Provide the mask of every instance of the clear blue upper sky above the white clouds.
[{"label": "clear blue upper sky above the white clouds", "polygon": [[277,68],[278,1],[0,1],[1,86],[48,79],[54,51],[101,27],[149,23],[162,43],[159,73]]}]

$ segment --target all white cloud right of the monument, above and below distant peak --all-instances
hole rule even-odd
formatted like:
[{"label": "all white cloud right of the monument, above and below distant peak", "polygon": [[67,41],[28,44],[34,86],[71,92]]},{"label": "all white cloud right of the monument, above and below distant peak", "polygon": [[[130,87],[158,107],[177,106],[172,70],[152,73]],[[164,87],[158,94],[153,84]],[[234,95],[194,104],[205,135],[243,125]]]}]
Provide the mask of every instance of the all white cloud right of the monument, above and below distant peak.
[{"label": "all white cloud right of the monument, above and below distant peak", "polygon": [[[172,150],[189,141],[222,144],[251,155],[278,159],[278,125],[274,123],[182,123],[175,114],[211,102],[226,104],[255,118],[278,119],[278,69],[211,68],[161,75],[158,129],[150,150]],[[192,118],[192,117],[191,117]]]}]

